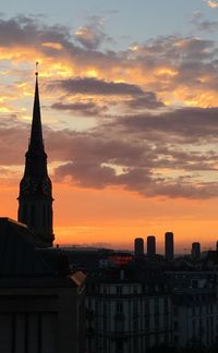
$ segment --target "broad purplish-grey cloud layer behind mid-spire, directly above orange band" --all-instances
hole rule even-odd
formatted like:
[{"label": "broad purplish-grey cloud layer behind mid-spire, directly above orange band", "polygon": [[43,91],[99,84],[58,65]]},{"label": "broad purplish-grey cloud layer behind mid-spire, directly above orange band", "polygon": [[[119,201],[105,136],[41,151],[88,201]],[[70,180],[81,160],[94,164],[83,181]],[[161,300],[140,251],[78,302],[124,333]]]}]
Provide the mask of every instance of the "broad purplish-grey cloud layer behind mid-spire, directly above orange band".
[{"label": "broad purplish-grey cloud layer behind mid-spire, directly above orange band", "polygon": [[[49,161],[62,163],[55,179],[69,175],[80,187],[123,187],[143,196],[208,198],[218,196],[217,117],[215,108],[186,108],[116,118],[88,132],[45,126],[44,135]],[[24,163],[29,127],[1,119],[1,166]]]}]

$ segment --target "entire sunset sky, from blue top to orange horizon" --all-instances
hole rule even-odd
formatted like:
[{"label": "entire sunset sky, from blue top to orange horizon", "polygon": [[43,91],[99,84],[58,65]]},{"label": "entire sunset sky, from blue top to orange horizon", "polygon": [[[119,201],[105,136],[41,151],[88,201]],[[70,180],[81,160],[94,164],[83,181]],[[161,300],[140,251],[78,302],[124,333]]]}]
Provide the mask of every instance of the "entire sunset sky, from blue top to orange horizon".
[{"label": "entire sunset sky, from blue top to orange horizon", "polygon": [[0,215],[16,219],[35,62],[56,243],[218,240],[218,1],[8,0]]}]

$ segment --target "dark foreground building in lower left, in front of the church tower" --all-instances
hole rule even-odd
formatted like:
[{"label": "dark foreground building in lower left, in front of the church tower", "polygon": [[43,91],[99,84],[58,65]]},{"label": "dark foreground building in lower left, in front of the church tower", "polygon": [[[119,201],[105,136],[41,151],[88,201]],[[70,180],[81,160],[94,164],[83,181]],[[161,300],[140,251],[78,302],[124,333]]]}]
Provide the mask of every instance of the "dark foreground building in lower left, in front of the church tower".
[{"label": "dark foreground building in lower left, in front of the church tower", "polygon": [[84,279],[59,249],[37,249],[21,223],[0,218],[0,352],[84,352]]}]

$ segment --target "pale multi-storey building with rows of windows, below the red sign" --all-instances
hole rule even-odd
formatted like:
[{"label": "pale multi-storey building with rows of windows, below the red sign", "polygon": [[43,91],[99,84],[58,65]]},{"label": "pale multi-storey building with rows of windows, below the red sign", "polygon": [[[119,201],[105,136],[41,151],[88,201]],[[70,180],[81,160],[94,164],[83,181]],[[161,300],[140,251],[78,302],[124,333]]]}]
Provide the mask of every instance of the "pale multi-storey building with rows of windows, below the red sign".
[{"label": "pale multi-storey building with rows of windows, below the red sign", "polygon": [[88,353],[145,353],[171,344],[171,300],[161,273],[130,264],[88,277]]}]

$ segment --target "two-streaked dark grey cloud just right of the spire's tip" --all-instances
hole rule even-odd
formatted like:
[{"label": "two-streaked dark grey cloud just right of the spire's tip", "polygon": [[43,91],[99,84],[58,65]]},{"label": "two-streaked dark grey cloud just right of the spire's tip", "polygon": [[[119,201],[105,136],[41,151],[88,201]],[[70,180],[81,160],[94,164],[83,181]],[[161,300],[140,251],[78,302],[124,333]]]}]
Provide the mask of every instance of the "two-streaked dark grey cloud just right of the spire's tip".
[{"label": "two-streaked dark grey cloud just right of the spire's tip", "polygon": [[[120,102],[111,102],[111,100],[108,101],[108,108],[110,108],[111,105],[120,104],[130,111],[145,109],[149,110],[165,107],[164,102],[158,100],[155,93],[143,92],[143,89],[140,86],[128,83],[114,83],[107,82],[104,80],[83,77],[61,80],[48,84],[48,89],[53,89],[57,87],[61,88],[61,90],[63,90],[68,95],[83,95],[83,98],[81,98],[82,100],[80,101],[78,97],[76,104],[58,102],[51,106],[51,108],[60,110],[77,110],[80,112],[89,111],[92,114],[96,113],[96,115],[106,112],[106,105],[101,106],[100,104],[94,101],[84,102],[84,95],[97,95],[102,96],[105,98],[108,96],[121,96],[122,99],[120,100]],[[126,97],[124,98],[124,96]],[[124,113],[126,113],[126,109]]]}]

